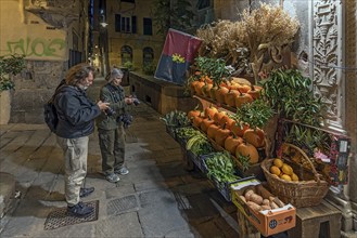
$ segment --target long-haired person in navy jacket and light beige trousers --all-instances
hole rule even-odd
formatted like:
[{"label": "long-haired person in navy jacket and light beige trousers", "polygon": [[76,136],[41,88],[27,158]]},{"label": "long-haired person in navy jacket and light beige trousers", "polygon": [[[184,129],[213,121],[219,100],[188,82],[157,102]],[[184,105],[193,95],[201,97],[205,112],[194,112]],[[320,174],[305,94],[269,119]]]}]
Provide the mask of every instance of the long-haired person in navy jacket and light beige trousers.
[{"label": "long-haired person in navy jacket and light beige trousers", "polygon": [[89,135],[94,131],[94,118],[109,108],[107,103],[94,104],[86,90],[94,80],[94,68],[87,64],[69,68],[65,80],[56,89],[54,106],[59,117],[56,140],[64,154],[65,199],[67,212],[75,216],[89,215],[93,208],[80,201],[94,188],[81,188],[87,175]]}]

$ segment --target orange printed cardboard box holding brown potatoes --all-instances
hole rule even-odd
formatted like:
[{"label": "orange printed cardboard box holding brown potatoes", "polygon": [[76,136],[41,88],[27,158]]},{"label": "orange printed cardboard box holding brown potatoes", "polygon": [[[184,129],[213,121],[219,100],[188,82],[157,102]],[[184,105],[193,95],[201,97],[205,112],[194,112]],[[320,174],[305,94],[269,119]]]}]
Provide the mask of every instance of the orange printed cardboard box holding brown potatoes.
[{"label": "orange printed cardboard box holding brown potatoes", "polygon": [[[247,217],[252,225],[254,225],[263,236],[271,236],[295,227],[296,209],[292,204],[285,204],[279,209],[256,212],[240,198],[246,189],[253,189],[258,194],[257,186],[259,185],[259,181],[251,178],[242,181],[241,183],[234,183],[234,186],[231,186],[232,202],[237,206],[240,212]],[[260,190],[263,191],[260,195],[264,198],[267,198],[267,196],[275,197],[263,186],[260,186]]]}]

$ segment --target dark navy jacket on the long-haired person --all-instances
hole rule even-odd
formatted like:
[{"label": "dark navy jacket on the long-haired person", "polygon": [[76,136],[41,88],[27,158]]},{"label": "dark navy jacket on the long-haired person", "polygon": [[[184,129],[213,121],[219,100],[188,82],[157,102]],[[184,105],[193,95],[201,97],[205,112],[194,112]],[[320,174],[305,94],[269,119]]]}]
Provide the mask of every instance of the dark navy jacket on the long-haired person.
[{"label": "dark navy jacket on the long-haired person", "polygon": [[73,85],[62,85],[54,98],[59,116],[55,134],[64,138],[87,136],[94,131],[94,118],[101,114],[86,94],[86,91]]}]

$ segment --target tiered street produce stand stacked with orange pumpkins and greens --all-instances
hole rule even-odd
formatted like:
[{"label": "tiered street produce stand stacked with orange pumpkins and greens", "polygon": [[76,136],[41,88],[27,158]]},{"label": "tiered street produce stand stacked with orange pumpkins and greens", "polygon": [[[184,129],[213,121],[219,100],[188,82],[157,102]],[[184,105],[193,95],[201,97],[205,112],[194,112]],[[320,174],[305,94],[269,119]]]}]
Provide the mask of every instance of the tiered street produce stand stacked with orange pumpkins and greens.
[{"label": "tiered street produce stand stacked with orange pumpkins and greens", "polygon": [[[268,36],[255,39],[247,34],[248,54],[244,55],[240,48],[242,54],[229,51],[226,57],[217,55],[227,49],[218,51],[217,42],[204,41],[202,48],[213,53],[200,52],[187,80],[199,105],[188,113],[175,111],[174,118],[181,121],[174,125],[175,130],[164,119],[167,131],[192,164],[207,175],[227,201],[237,206],[238,217],[244,220],[240,223],[250,221],[263,236],[285,230],[306,234],[308,224],[322,223],[329,224],[330,234],[337,234],[341,212],[326,209],[329,204],[323,198],[331,185],[347,183],[350,141],[322,129],[323,104],[313,92],[311,79],[286,64],[283,56],[277,61],[272,54],[271,47],[286,53],[285,47],[298,24],[281,10],[263,4],[243,14],[238,24],[240,30],[250,24],[255,29],[267,27],[254,25],[260,11],[265,18],[284,18],[286,25],[270,32],[281,35],[281,41],[271,42]],[[215,32],[217,27],[231,26],[219,22],[209,30]],[[202,29],[199,37],[209,30]],[[269,29],[265,32],[269,34]],[[264,64],[265,57],[272,63]],[[248,68],[253,77],[243,77]],[[250,234],[242,235],[255,233],[252,227],[245,228]]]}]

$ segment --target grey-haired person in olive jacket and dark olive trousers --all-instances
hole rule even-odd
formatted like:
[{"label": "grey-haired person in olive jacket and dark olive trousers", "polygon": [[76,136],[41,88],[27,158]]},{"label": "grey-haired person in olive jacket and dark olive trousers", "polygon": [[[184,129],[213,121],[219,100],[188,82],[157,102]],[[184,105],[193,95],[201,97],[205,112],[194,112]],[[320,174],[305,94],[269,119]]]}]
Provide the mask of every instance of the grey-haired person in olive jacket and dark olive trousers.
[{"label": "grey-haired person in olive jacket and dark olive trousers", "polygon": [[133,103],[133,98],[125,96],[120,85],[123,76],[120,69],[114,68],[106,77],[107,83],[101,89],[100,100],[110,103],[111,106],[97,120],[102,171],[111,183],[118,182],[118,175],[129,173],[124,164],[125,131],[119,118],[126,113],[127,105]]}]

